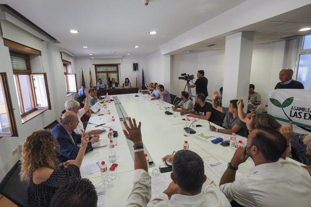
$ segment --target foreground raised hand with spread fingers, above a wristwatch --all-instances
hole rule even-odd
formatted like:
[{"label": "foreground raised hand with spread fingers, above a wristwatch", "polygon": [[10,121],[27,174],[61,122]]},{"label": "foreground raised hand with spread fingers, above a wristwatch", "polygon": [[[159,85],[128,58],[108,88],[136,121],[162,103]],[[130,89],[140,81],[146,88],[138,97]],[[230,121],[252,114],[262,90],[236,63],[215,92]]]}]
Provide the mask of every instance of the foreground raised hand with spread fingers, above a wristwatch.
[{"label": "foreground raised hand with spread fingers, above a wristwatch", "polygon": [[134,144],[143,143],[142,132],[141,132],[141,125],[142,125],[141,122],[139,122],[139,125],[137,126],[135,118],[132,121],[131,117],[129,117],[130,126],[128,125],[126,120],[123,121],[123,124],[126,128],[126,130],[123,130],[123,133],[128,140],[131,140]]}]

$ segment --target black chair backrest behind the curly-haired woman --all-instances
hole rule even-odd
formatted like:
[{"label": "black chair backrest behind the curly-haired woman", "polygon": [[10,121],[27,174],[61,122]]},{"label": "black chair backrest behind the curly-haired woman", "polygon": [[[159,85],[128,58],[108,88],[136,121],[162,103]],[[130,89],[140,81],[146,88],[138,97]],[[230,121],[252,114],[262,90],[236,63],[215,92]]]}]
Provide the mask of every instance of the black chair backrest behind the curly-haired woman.
[{"label": "black chair backrest behind the curly-haired woman", "polygon": [[18,207],[27,207],[28,183],[20,180],[19,173],[20,161],[17,161],[1,181],[0,194]]}]

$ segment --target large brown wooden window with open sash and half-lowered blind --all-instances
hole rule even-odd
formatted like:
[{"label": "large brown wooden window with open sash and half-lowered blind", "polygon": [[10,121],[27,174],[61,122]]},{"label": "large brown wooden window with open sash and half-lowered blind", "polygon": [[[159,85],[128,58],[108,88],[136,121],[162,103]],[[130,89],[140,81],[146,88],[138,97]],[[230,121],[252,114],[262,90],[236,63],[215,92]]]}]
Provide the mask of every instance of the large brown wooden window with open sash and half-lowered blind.
[{"label": "large brown wooden window with open sash and half-lowered blind", "polygon": [[51,109],[45,73],[31,73],[29,55],[10,53],[21,116],[38,108]]}]

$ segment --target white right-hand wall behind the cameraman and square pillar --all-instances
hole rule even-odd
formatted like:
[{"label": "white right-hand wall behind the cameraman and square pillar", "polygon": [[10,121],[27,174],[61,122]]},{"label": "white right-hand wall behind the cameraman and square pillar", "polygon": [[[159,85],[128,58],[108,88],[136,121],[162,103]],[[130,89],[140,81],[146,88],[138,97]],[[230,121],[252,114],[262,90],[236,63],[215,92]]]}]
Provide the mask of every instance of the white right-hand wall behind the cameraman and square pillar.
[{"label": "white right-hand wall behind the cameraman and square pillar", "polygon": [[[250,82],[255,85],[255,91],[262,95],[264,104],[268,104],[268,93],[274,90],[275,85],[280,81],[279,71],[282,68],[295,69],[297,48],[298,39],[254,45]],[[217,50],[173,55],[171,58],[170,87],[172,89],[170,92],[179,95],[180,91],[184,89],[185,81],[178,80],[181,73],[194,74],[196,77],[197,70],[202,69],[208,79],[208,98],[211,98],[213,91],[218,91],[223,85],[224,53],[224,50]],[[158,75],[157,78],[161,78],[161,73],[153,75]],[[194,88],[192,93],[195,94]]]}]

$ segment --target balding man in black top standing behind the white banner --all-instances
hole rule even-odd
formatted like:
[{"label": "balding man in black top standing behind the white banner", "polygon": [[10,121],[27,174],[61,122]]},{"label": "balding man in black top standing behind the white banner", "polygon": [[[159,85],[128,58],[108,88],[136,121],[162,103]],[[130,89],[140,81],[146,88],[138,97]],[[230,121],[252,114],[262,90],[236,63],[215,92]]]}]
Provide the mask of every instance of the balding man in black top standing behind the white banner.
[{"label": "balding man in black top standing behind the white banner", "polygon": [[292,69],[282,69],[279,74],[281,82],[274,89],[305,89],[301,82],[292,79],[293,74]]}]

